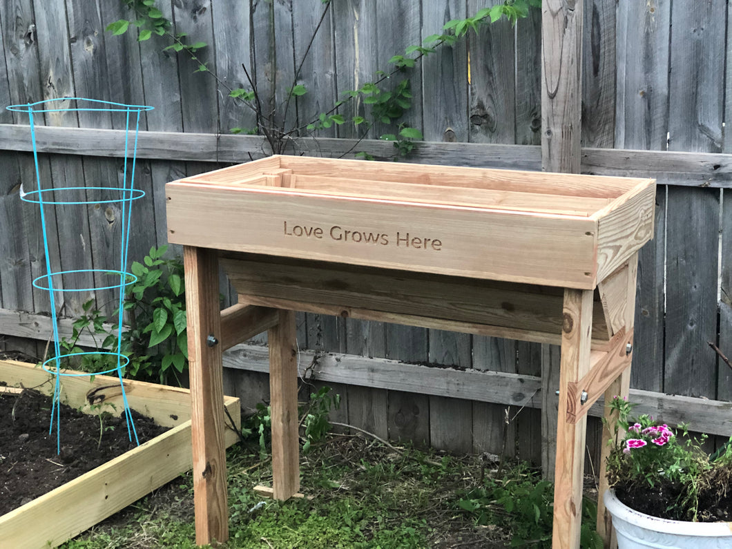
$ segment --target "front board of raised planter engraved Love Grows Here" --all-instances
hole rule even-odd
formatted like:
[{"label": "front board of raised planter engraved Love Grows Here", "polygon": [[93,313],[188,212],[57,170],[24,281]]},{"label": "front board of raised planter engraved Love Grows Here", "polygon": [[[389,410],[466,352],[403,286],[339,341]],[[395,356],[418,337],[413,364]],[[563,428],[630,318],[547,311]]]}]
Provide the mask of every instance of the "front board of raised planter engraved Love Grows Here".
[{"label": "front board of raised planter engraved Love Grows Here", "polygon": [[[169,242],[519,283],[594,287],[596,227],[594,221],[580,217],[490,210],[477,216],[454,206],[318,197],[295,191],[284,194],[264,188],[247,189],[246,195],[240,189],[193,184],[168,184],[166,189]],[[324,208],[329,212],[327,219],[322,215]],[[321,227],[324,236],[289,236],[284,229],[288,222]],[[346,241],[345,231],[357,231],[362,242]],[[386,244],[375,244],[373,239],[366,244],[362,234],[369,233],[386,234]],[[485,239],[485,234],[491,238]],[[426,249],[423,239],[430,239],[433,247]],[[375,245],[378,255],[373,252]],[[481,254],[475,255],[474,250]]]}]

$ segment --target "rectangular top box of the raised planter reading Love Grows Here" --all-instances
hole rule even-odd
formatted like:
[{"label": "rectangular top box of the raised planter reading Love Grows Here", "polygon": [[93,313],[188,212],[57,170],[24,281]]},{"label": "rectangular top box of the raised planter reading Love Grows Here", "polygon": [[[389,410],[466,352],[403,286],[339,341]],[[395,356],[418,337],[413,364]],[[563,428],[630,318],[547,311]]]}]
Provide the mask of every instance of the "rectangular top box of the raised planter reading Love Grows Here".
[{"label": "rectangular top box of the raised planter reading Love Grows Here", "polygon": [[274,156],[166,185],[189,246],[592,289],[653,234],[653,179]]}]

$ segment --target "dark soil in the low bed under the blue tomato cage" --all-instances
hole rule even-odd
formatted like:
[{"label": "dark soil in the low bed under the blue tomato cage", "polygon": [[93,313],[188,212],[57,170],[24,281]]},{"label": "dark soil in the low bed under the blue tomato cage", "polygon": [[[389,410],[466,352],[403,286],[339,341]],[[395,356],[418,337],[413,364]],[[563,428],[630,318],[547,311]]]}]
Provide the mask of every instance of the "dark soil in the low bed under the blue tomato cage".
[{"label": "dark soil in the low bed under the blue tomato cage", "polygon": [[[31,389],[0,393],[0,418],[0,516],[137,446],[130,442],[124,413],[107,415],[100,425],[99,417],[62,404],[57,454],[55,423],[48,433],[51,398]],[[168,430],[134,410],[132,419],[140,444]]]}]

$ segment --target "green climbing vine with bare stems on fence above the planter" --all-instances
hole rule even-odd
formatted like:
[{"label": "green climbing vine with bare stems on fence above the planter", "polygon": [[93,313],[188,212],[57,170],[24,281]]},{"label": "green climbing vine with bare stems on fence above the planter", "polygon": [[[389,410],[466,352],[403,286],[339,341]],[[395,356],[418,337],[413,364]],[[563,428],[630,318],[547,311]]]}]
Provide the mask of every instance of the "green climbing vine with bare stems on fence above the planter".
[{"label": "green climbing vine with bare stems on fence above the planter", "polygon": [[[305,58],[310,54],[313,39],[326,19],[332,0],[321,0],[323,12],[302,60],[296,67],[294,81],[287,89],[282,104],[275,111],[269,113],[262,108],[263,101],[246,64],[242,64],[242,67],[249,84],[248,88],[232,88],[218,77],[214,70],[209,67],[209,64],[199,58],[198,51],[208,47],[206,42],[193,42],[188,40],[186,34],[174,32],[172,21],[165,18],[163,12],[155,7],[156,0],[122,1],[132,12],[133,18],[114,21],[107,27],[108,31],[111,31],[113,35],[119,35],[130,31],[130,29],[137,29],[138,40],[140,41],[149,40],[154,35],[165,37],[170,42],[165,46],[165,50],[185,53],[190,56],[190,59],[197,64],[198,71],[211,75],[223,89],[228,91],[229,97],[242,102],[245,108],[249,108],[255,113],[255,127],[233,127],[230,129],[232,133],[264,135],[272,152],[280,154],[285,151],[288,143],[297,136],[327,130],[343,124],[352,124],[356,128],[357,135],[359,135],[356,142],[358,143],[365,138],[367,132],[378,122],[394,127],[393,132],[384,133],[379,138],[385,141],[393,141],[396,154],[400,156],[409,154],[414,149],[414,142],[423,139],[420,130],[400,122],[400,119],[412,106],[409,71],[414,69],[417,61],[424,56],[435,53],[438,48],[454,45],[458,40],[466,37],[470,31],[478,33],[482,26],[495,23],[503,17],[515,24],[520,18],[525,18],[529,14],[531,7],[541,5],[541,0],[504,0],[503,3],[479,10],[466,19],[450,20],[445,23],[441,34],[432,34],[426,37],[421,44],[411,45],[406,48],[404,53],[392,56],[389,59],[389,66],[386,67],[387,70],[378,70],[375,74],[376,78],[372,82],[367,82],[358,89],[343,91],[341,98],[332,105],[332,108],[321,113],[315,113],[304,124],[293,124],[291,127],[286,127],[285,121],[287,120],[291,100],[302,97],[309,92],[306,86],[298,83],[299,75]],[[362,114],[346,118],[340,112],[340,107],[353,100],[359,100],[365,106],[364,111]],[[365,152],[356,153],[356,156],[367,160],[372,159]]]}]

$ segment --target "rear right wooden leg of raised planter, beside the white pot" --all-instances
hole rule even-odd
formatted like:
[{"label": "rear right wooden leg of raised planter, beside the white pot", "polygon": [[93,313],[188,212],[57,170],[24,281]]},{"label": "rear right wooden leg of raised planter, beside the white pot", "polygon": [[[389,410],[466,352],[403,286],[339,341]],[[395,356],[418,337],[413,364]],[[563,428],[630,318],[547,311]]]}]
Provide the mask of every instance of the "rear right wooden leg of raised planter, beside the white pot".
[{"label": "rear right wooden leg of raised planter, beside the white pot", "polygon": [[[624,291],[620,291],[621,295],[616,299],[623,302],[624,307],[622,308],[621,322],[626,326],[628,330],[635,326],[635,288],[636,279],[638,275],[638,253],[635,253],[630,261],[628,262],[627,272],[623,273],[625,288]],[[619,396],[621,398],[627,398],[630,392],[630,367],[627,368],[620,376],[613,381],[608,389],[605,391],[605,403],[609,403],[613,397]],[[608,455],[610,454],[610,438],[612,434],[608,429],[608,425],[613,425],[618,419],[617,414],[613,414],[608,406],[605,406],[605,425],[602,426],[602,452],[600,457],[600,487],[597,492],[597,533],[602,537],[602,541],[605,549],[613,549],[618,546],[617,539],[615,537],[615,531],[613,530],[612,518],[610,514],[605,511],[605,502],[602,500],[605,495],[605,490],[608,490],[608,477],[607,477],[607,461]],[[616,433],[616,436],[624,436],[624,433]],[[613,443],[616,442],[613,440]]]}]

